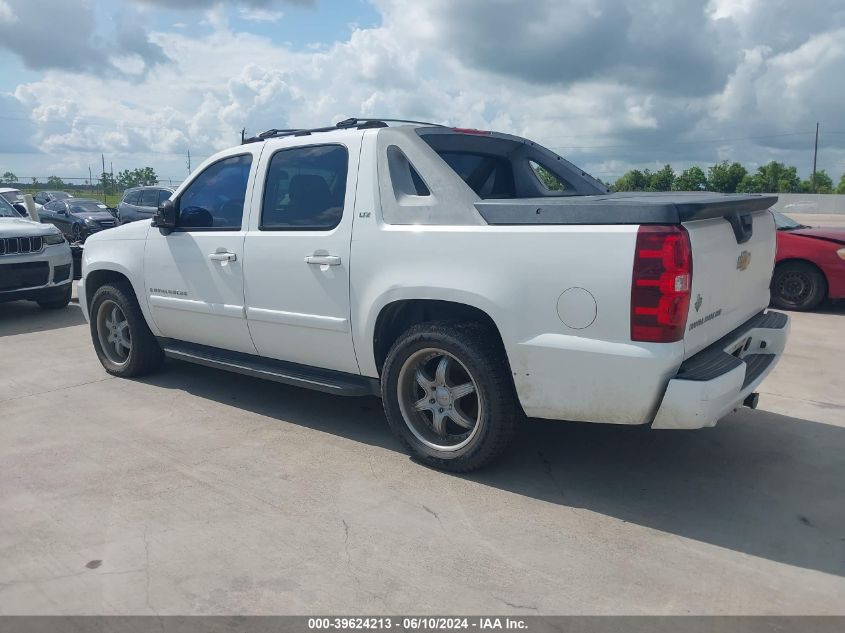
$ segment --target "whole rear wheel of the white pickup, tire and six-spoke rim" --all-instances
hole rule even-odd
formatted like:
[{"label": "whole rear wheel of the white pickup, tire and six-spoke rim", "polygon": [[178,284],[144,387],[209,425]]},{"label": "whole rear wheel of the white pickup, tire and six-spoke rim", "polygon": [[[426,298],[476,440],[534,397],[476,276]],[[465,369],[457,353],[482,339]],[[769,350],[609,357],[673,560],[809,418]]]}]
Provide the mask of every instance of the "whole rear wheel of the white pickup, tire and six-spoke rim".
[{"label": "whole rear wheel of the white pickup, tire and six-spoke rim", "polygon": [[394,343],[382,372],[393,432],[421,461],[475,470],[498,457],[521,412],[496,337],[475,323],[424,323]]}]

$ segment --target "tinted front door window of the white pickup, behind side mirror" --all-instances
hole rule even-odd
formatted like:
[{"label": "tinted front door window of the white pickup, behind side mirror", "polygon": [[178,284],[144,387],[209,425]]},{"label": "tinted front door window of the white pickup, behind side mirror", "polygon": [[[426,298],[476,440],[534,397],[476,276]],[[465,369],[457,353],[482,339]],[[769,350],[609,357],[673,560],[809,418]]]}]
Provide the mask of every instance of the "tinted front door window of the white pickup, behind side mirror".
[{"label": "tinted front door window of the white pickup, behind side mirror", "polygon": [[183,229],[238,231],[244,215],[252,154],[232,156],[205,168],[179,197]]}]

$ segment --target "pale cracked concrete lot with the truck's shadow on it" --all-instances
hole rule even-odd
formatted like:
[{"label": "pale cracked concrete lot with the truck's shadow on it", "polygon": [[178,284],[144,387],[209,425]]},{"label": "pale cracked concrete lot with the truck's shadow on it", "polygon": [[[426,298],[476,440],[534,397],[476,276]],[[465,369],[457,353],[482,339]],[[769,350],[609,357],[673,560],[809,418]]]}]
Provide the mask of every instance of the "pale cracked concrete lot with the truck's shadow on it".
[{"label": "pale cracked concrete lot with the truck's shadow on it", "polygon": [[0,613],[845,614],[845,307],[793,318],[758,411],[454,476],[376,399],[110,379],[77,306],[0,305]]}]

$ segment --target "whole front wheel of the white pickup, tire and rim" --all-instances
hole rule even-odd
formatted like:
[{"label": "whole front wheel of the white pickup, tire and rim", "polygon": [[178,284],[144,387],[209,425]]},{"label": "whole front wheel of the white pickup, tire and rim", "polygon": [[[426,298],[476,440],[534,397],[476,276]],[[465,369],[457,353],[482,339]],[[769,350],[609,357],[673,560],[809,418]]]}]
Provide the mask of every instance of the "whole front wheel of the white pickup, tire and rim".
[{"label": "whole front wheel of the white pickup, tire and rim", "polygon": [[164,359],[132,287],[126,282],[101,286],[94,293],[91,340],[103,367],[114,376],[148,374],[158,369]]}]

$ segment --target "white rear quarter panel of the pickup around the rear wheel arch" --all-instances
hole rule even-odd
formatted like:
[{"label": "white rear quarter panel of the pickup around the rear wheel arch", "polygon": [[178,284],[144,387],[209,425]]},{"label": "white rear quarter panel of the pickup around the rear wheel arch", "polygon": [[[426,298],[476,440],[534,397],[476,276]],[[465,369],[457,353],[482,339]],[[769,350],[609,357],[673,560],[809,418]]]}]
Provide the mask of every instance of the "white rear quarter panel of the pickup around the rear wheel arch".
[{"label": "white rear quarter panel of the pickup around the rear wheel arch", "polygon": [[[529,416],[651,421],[683,343],[630,341],[636,225],[388,225],[377,173],[367,169],[375,152],[375,136],[365,135],[350,253],[352,334],[364,375],[379,375],[373,336],[385,306],[453,301],[496,324]],[[595,318],[585,327],[569,327],[559,316],[568,288],[583,288],[589,295],[578,294],[594,302]]]}]

